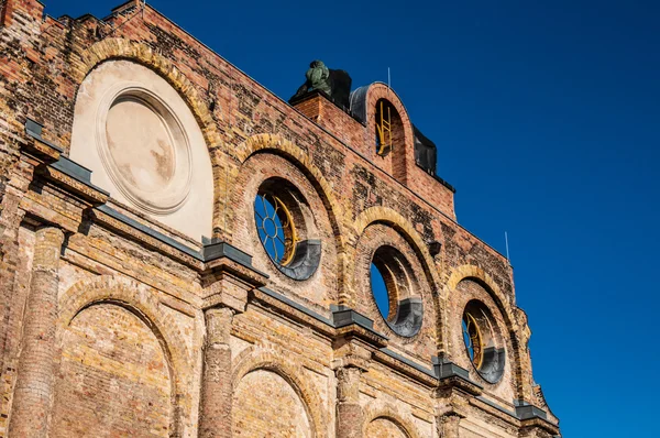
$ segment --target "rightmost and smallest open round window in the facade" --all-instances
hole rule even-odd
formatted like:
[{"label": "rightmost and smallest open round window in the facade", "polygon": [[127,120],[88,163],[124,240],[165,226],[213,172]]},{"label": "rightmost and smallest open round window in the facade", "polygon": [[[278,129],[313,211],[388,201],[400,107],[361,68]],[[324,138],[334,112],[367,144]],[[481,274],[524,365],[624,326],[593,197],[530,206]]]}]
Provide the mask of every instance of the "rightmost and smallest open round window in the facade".
[{"label": "rightmost and smallest open round window in the facade", "polygon": [[474,369],[488,383],[497,383],[504,374],[505,349],[486,306],[476,300],[468,303],[462,328],[465,351]]}]

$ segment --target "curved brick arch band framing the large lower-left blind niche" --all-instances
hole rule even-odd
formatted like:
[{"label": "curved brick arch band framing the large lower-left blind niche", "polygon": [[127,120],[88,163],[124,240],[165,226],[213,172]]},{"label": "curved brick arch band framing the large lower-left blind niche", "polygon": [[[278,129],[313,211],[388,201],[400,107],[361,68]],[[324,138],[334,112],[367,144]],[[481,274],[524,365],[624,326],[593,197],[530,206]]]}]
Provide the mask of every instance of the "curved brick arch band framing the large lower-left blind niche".
[{"label": "curved brick arch band framing the large lower-left blind niche", "polygon": [[69,287],[59,299],[58,326],[61,332],[82,310],[97,304],[113,304],[140,318],[158,339],[172,375],[170,435],[178,436],[186,424],[186,412],[191,408],[187,392],[191,383],[189,363],[193,355],[183,341],[183,335],[172,316],[160,309],[153,291],[144,291],[136,282],[102,275],[80,281]]}]

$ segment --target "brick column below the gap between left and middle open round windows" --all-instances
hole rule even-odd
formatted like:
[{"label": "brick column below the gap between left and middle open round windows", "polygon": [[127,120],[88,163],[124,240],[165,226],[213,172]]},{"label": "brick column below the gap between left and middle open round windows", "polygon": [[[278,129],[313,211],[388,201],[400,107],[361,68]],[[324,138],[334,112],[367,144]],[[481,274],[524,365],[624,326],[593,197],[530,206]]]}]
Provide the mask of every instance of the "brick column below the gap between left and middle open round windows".
[{"label": "brick column below the gap between left and middle open round windows", "polygon": [[342,366],[337,370],[337,438],[362,438],[364,412],[360,406],[362,370]]}]

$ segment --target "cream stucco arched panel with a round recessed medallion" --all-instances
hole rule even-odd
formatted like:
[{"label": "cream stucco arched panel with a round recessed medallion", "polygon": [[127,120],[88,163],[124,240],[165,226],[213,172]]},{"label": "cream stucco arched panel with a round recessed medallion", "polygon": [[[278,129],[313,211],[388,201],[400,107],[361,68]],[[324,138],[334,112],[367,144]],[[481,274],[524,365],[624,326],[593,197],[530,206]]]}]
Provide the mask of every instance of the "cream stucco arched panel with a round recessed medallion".
[{"label": "cream stucco arched panel with a round recessed medallion", "polygon": [[82,81],[70,158],[113,199],[196,240],[211,236],[213,178],[184,99],[151,69],[110,61]]}]

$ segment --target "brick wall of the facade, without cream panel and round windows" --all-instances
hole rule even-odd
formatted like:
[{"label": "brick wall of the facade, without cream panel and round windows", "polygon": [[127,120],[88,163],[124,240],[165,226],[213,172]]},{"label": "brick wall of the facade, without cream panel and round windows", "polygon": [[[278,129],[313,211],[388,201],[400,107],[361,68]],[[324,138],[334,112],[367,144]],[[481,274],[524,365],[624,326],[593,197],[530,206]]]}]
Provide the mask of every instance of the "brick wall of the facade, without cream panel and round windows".
[{"label": "brick wall of the facade, without cream panel and round windows", "polygon": [[[21,416],[30,419],[14,408],[24,399],[16,387],[33,379],[21,363],[36,359],[25,358],[25,309],[41,287],[31,285],[43,227],[63,236],[52,271],[54,348],[40,357],[54,370],[44,406],[50,436],[458,438],[459,424],[476,436],[557,430],[515,414],[514,399],[540,404],[542,393],[532,391],[530,331],[510,267],[455,222],[453,191],[415,165],[410,121],[393,91],[371,86],[362,124],[322,96],[293,108],[151,7],[142,14],[131,2],[102,21],[44,19],[35,0],[2,4],[0,437],[28,424]],[[252,255],[250,266],[190,255],[200,242],[54,177],[53,158],[34,152],[46,146],[26,135],[26,119],[42,123],[44,140],[66,156],[79,85],[117,58],[153,69],[190,108],[213,166],[213,237]],[[381,98],[396,108],[404,132],[404,146],[386,157],[375,154],[370,116]],[[254,196],[271,177],[299,190],[306,233],[322,241],[321,264],[304,282],[278,271],[256,234]],[[130,220],[108,217],[101,204]],[[433,241],[441,251],[431,255]],[[409,339],[389,330],[370,293],[370,258],[382,244],[404,254],[424,303],[422,328]],[[471,298],[493,309],[507,339],[507,371],[496,385],[470,370],[462,346],[460,318]],[[333,326],[337,305],[373,327]],[[220,328],[205,318],[212,306],[226,306]],[[438,380],[431,357],[469,370],[471,380]],[[217,372],[216,359],[230,365]],[[209,387],[221,391],[202,397]],[[201,430],[202,423],[219,426]],[[25,434],[46,436],[36,427]]]}]

